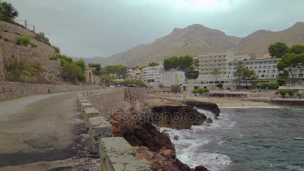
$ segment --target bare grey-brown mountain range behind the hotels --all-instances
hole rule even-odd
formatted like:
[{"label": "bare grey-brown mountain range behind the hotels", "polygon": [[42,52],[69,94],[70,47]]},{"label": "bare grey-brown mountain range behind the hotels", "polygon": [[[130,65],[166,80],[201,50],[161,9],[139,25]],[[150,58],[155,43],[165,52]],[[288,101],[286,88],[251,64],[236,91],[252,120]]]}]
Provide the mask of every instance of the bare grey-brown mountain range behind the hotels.
[{"label": "bare grey-brown mountain range behind the hotels", "polygon": [[[287,45],[304,43],[304,22],[296,22],[281,31],[257,30],[246,37],[226,35],[223,31],[192,24],[174,28],[166,36],[148,44],[139,44],[129,50],[109,57],[83,58],[87,63],[146,65],[172,55],[198,56],[215,51],[231,50],[235,55],[267,57],[269,44],[281,41]],[[74,58],[79,59],[79,58]]]}]

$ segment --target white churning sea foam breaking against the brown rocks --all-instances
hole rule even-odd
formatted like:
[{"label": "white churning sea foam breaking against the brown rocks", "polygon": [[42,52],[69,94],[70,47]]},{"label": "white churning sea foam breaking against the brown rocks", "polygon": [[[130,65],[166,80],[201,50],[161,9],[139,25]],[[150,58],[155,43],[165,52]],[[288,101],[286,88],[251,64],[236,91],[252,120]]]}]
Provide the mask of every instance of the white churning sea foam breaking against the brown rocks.
[{"label": "white churning sea foam breaking against the brown rocks", "polygon": [[[221,145],[224,141],[221,141],[219,137],[212,137],[208,139],[207,136],[203,136],[202,133],[206,129],[222,129],[232,128],[236,122],[229,119],[229,115],[221,113],[218,119],[215,118],[214,114],[210,111],[197,109],[199,112],[204,113],[207,118],[210,117],[213,123],[202,125],[193,125],[191,129],[172,129],[161,127],[160,130],[167,130],[171,137],[171,141],[175,145],[177,158],[183,163],[186,163],[190,167],[197,165],[203,165],[211,171],[224,170],[228,165],[231,164],[232,160],[230,157],[219,154],[219,151],[208,151],[203,146],[208,144],[211,140],[216,140],[218,145]],[[177,136],[178,140],[173,139]],[[219,152],[219,153],[217,153]]]}]

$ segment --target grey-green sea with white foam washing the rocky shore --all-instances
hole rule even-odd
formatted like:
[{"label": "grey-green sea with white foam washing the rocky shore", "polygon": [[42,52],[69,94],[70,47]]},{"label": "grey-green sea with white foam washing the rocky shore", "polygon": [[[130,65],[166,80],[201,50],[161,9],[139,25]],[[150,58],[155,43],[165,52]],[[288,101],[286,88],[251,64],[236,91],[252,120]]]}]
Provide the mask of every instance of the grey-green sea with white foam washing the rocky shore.
[{"label": "grey-green sea with white foam washing the rocky shore", "polygon": [[222,108],[213,121],[168,129],[181,161],[210,170],[304,170],[304,108]]}]

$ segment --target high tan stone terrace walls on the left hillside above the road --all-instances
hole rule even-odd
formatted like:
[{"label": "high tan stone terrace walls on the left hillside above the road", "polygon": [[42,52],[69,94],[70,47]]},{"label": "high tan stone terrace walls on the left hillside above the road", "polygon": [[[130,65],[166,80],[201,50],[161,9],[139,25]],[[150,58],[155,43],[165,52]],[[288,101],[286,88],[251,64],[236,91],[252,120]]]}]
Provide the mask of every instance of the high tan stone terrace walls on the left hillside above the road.
[{"label": "high tan stone terrace walls on the left hillside above the road", "polygon": [[[17,38],[20,35],[31,37],[31,43],[36,47],[23,47],[16,45]],[[2,51],[2,68],[9,64],[12,57],[24,60],[27,63],[35,64],[39,62],[47,71],[43,73],[43,77],[62,81],[60,62],[50,60],[49,57],[55,53],[55,49],[51,46],[40,42],[34,38],[35,34],[14,24],[0,21],[0,48]],[[0,69],[1,72],[1,69]],[[1,79],[0,79],[1,80]]]}]

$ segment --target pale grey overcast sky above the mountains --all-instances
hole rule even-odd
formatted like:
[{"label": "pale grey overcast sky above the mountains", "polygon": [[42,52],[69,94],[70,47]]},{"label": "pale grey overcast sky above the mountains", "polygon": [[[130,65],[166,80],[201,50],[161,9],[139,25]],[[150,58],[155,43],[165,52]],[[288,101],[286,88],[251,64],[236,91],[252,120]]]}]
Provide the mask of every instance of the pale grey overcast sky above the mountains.
[{"label": "pale grey overcast sky above the mountains", "polygon": [[304,21],[304,0],[7,1],[73,57],[107,57],[194,23],[246,36]]}]

